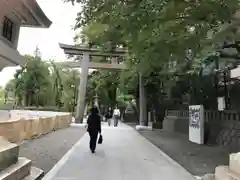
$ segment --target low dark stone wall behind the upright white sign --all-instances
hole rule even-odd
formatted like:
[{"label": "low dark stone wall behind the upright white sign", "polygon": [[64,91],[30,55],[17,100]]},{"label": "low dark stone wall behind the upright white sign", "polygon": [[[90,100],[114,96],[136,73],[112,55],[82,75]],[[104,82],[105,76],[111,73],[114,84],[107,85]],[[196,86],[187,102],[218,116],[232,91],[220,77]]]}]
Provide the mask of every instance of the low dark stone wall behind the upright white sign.
[{"label": "low dark stone wall behind the upright white sign", "polygon": [[[232,111],[205,111],[205,142],[219,144],[231,152],[240,150],[240,115]],[[168,111],[163,129],[188,135],[188,111]]]}]

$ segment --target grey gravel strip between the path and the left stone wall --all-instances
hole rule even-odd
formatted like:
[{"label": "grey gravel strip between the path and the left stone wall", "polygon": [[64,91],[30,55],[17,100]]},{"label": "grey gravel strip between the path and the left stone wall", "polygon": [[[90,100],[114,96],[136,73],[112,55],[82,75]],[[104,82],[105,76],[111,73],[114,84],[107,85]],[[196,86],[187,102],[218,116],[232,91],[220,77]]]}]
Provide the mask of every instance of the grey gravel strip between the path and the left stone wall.
[{"label": "grey gravel strip between the path and the left stone wall", "polygon": [[31,159],[32,165],[46,174],[85,132],[82,127],[69,127],[27,141],[20,145],[20,156]]}]

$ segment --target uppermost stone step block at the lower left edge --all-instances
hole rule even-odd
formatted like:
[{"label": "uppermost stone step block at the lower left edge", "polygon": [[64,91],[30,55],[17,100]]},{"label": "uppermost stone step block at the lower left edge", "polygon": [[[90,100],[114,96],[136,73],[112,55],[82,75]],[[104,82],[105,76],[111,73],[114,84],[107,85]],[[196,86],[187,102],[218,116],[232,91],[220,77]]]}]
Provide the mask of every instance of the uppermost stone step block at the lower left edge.
[{"label": "uppermost stone step block at the lower left edge", "polygon": [[0,172],[18,160],[19,146],[0,137]]}]

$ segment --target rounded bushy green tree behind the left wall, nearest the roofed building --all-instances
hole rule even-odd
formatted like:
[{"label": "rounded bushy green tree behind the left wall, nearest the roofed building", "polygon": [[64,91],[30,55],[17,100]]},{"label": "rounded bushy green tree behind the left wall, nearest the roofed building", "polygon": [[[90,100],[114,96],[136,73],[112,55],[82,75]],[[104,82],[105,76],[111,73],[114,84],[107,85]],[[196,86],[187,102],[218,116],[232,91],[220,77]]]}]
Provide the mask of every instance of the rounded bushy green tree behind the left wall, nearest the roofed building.
[{"label": "rounded bushy green tree behind the left wall, nearest the roofed building", "polygon": [[15,75],[15,96],[17,104],[25,106],[39,106],[48,100],[45,95],[50,81],[48,79],[48,65],[38,56],[25,56],[26,65]]}]

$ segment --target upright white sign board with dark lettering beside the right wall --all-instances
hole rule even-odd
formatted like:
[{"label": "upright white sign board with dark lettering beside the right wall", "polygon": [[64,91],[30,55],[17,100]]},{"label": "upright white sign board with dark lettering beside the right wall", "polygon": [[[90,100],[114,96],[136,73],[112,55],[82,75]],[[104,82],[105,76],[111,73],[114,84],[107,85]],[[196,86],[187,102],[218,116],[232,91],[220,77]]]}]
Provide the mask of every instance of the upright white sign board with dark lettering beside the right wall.
[{"label": "upright white sign board with dark lettering beside the right wall", "polygon": [[189,106],[189,141],[204,144],[204,108]]}]

